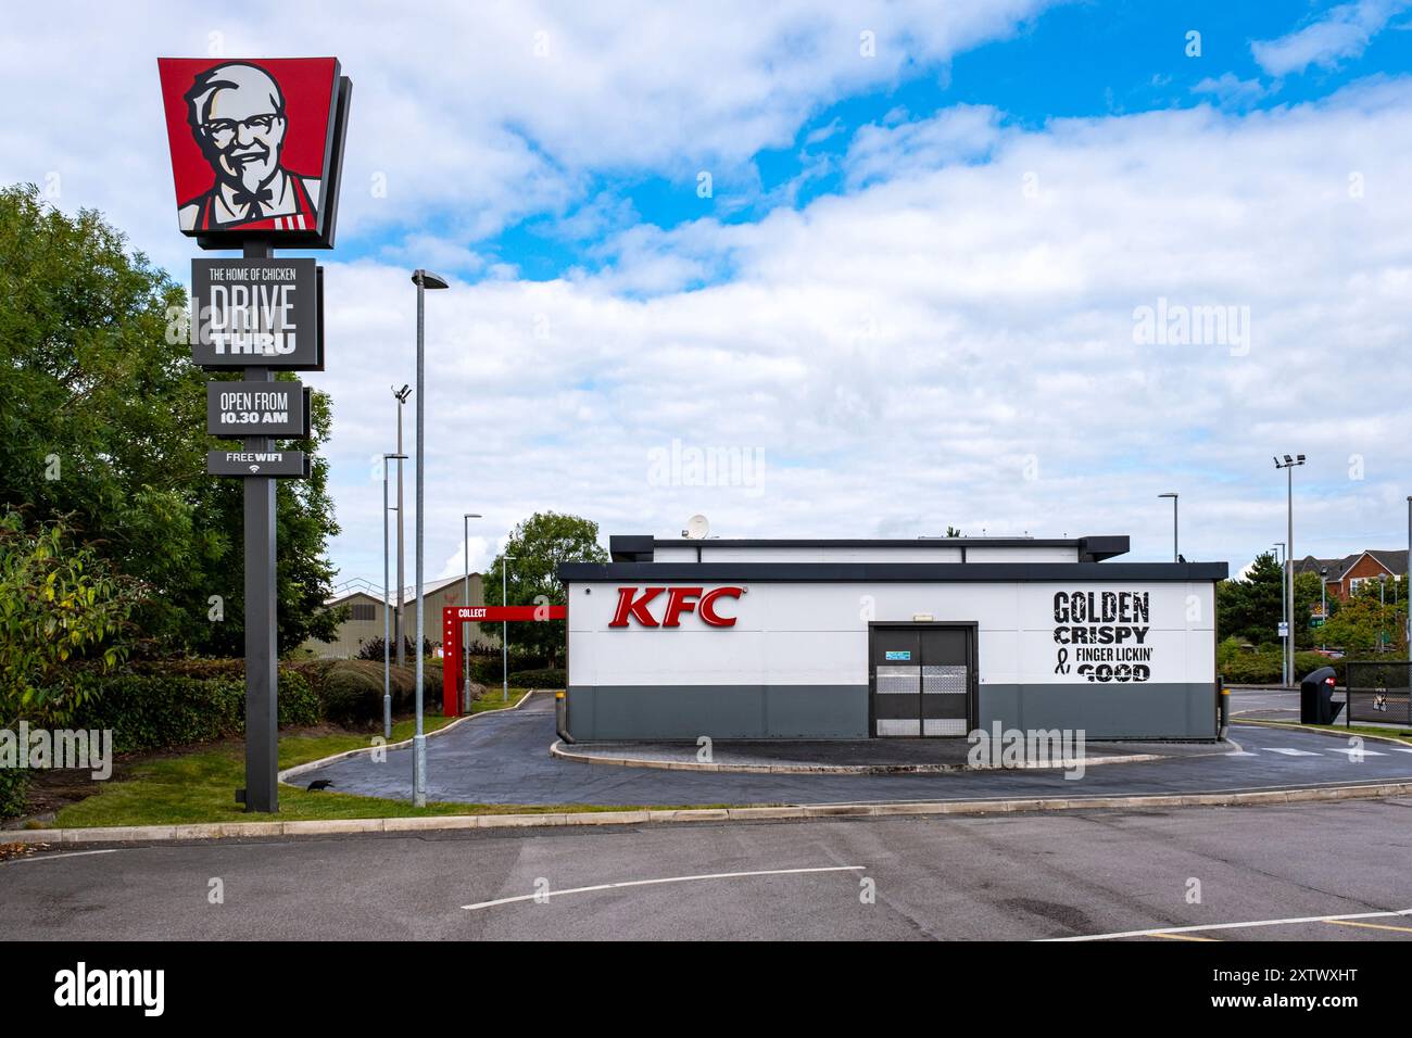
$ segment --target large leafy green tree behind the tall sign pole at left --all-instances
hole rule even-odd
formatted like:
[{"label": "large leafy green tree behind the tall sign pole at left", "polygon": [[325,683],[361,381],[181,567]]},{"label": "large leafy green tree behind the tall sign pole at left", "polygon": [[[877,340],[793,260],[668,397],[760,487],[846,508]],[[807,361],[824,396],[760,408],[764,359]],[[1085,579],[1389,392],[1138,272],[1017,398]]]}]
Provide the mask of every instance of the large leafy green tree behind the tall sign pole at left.
[{"label": "large leafy green tree behind the tall sign pole at left", "polygon": [[[66,216],[37,188],[0,189],[0,507],[75,535],[150,595],[134,621],[167,652],[243,644],[240,480],[205,475],[208,376],[172,333],[184,290],[92,210]],[[281,480],[280,644],[328,637],[323,610],[337,532],[328,462],[329,401],[294,443],[313,477]],[[213,623],[212,596],[225,619]]]}]

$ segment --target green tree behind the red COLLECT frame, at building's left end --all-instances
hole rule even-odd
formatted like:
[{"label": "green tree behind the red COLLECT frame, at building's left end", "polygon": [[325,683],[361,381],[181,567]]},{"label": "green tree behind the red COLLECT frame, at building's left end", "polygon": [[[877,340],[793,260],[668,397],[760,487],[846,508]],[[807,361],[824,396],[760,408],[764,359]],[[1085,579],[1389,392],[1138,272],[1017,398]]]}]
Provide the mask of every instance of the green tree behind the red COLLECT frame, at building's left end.
[{"label": "green tree behind the red COLLECT frame, at building's left end", "polygon": [[[486,602],[493,606],[505,604],[500,596],[500,583],[507,555],[510,568],[505,571],[505,600],[511,606],[562,606],[563,585],[558,578],[561,562],[609,561],[609,554],[599,545],[597,523],[578,515],[537,511],[514,528],[505,551],[484,575]],[[565,636],[563,620],[521,623],[510,633],[510,648],[562,664]]]}]

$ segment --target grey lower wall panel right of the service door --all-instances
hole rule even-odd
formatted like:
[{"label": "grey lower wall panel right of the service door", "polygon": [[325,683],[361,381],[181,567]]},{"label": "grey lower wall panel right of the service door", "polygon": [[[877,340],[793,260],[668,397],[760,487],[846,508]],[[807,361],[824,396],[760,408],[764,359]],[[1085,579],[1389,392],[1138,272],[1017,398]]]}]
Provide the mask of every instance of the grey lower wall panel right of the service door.
[{"label": "grey lower wall panel right of the service door", "polygon": [[981,685],[990,729],[1083,729],[1086,739],[1216,739],[1216,682]]}]

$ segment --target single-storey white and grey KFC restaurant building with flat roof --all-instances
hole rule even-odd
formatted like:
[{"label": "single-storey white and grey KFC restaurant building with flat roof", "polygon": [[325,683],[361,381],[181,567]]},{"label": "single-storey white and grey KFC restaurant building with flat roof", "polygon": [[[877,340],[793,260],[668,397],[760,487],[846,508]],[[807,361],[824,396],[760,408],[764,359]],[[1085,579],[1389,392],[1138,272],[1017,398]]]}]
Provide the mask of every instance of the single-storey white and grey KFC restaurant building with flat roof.
[{"label": "single-storey white and grey KFC restaurant building with flat roof", "polygon": [[559,566],[561,736],[1216,739],[1224,562],[1114,562],[1127,537],[613,537]]}]

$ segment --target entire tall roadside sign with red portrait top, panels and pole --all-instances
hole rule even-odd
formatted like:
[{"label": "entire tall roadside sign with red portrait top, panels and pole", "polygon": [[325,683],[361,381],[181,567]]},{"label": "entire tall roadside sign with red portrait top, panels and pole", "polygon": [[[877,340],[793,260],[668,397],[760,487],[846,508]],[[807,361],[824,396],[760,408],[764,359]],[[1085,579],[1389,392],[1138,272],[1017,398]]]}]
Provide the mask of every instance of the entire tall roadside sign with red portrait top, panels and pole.
[{"label": "entire tall roadside sign with red portrait top, panels and pole", "polygon": [[246,811],[275,812],[280,637],[275,480],[308,477],[309,391],[277,371],[323,370],[323,271],[275,246],[332,249],[353,83],[336,58],[158,58],[178,226],[239,260],[192,261],[192,360],[236,370],[206,388],[206,473],[243,479],[246,549]]}]

